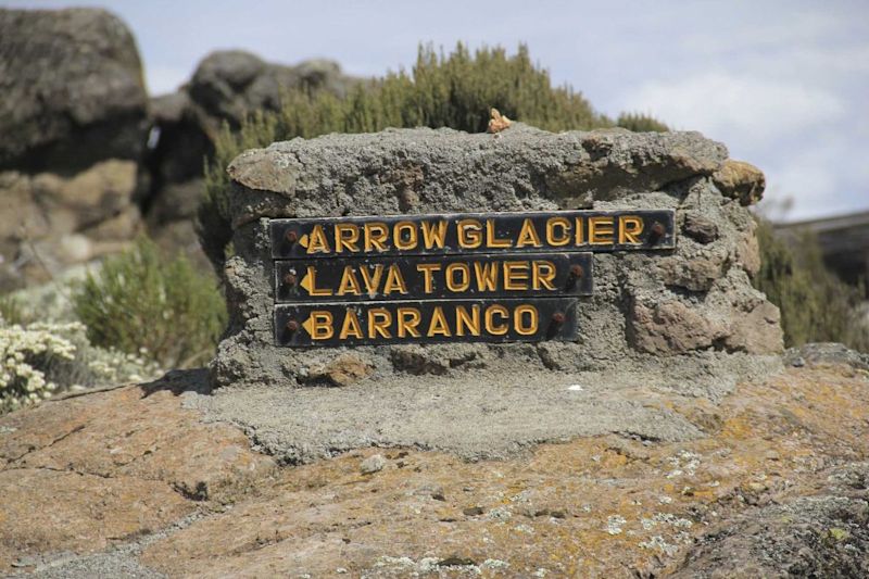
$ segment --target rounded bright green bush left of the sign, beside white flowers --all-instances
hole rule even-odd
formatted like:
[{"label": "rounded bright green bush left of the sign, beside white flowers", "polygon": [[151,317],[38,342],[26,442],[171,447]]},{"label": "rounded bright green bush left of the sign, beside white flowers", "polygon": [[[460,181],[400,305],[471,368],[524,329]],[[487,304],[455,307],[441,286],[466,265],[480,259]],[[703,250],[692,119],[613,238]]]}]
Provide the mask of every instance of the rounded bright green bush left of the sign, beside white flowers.
[{"label": "rounded bright green bush left of the sign, beside white flowers", "polygon": [[214,279],[144,238],[78,284],[73,306],[91,343],[133,355],[144,349],[163,367],[204,363],[226,323]]}]

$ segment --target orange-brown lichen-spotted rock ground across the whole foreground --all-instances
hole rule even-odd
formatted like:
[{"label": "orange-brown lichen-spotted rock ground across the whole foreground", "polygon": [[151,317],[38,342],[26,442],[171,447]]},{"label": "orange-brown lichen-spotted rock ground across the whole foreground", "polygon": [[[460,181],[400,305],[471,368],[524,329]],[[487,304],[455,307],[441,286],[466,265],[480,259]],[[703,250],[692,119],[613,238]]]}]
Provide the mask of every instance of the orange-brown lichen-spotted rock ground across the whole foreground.
[{"label": "orange-brown lichen-spotted rock ground across the whole foreground", "polygon": [[786,361],[718,401],[646,397],[693,426],[678,441],[476,462],[396,446],[290,466],[203,421],[202,372],[47,402],[0,418],[0,572],[866,577],[869,363]]}]

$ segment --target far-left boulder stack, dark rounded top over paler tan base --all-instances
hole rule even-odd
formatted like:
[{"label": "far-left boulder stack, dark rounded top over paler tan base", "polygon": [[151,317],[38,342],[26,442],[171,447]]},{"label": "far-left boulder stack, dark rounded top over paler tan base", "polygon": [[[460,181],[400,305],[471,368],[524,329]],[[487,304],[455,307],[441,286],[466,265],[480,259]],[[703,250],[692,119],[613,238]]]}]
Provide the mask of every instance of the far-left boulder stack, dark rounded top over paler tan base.
[{"label": "far-left boulder stack, dark rounded top over paler tan base", "polygon": [[0,290],[56,277],[139,230],[148,97],[103,10],[0,10]]}]

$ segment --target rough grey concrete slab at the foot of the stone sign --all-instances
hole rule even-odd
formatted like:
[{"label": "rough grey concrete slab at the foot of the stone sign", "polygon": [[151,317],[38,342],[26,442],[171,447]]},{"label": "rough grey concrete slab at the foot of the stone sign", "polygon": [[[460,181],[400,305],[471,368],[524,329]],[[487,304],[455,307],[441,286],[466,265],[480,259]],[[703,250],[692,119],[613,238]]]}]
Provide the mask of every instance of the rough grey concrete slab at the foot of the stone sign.
[{"label": "rough grey concrete slab at the foot of the stone sign", "polygon": [[225,387],[188,405],[206,419],[243,427],[257,448],[289,464],[365,446],[440,450],[478,461],[609,432],[691,440],[702,432],[664,400],[717,401],[736,380],[780,367],[774,356],[697,356],[664,370],[650,364],[559,373],[529,370],[519,358],[513,372],[371,378],[344,388]]}]

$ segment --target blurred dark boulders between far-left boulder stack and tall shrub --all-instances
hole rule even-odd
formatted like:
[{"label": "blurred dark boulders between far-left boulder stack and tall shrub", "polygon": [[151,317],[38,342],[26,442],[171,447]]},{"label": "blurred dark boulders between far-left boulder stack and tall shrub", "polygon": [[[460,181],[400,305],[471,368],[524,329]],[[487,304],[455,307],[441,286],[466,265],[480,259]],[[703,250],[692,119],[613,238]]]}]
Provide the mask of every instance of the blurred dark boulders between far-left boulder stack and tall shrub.
[{"label": "blurred dark boulders between far-left boulder stack and tall shrub", "polygon": [[281,93],[288,89],[304,87],[340,97],[355,83],[357,78],[343,74],[332,61],[310,60],[288,66],[240,50],[205,56],[177,92],[151,101],[156,138],[144,161],[151,235],[164,247],[180,249],[207,267],[193,221],[204,187],[202,166],[214,153],[223,124],[239,128],[256,111],[277,111]]}]

